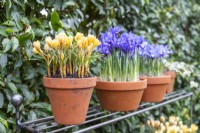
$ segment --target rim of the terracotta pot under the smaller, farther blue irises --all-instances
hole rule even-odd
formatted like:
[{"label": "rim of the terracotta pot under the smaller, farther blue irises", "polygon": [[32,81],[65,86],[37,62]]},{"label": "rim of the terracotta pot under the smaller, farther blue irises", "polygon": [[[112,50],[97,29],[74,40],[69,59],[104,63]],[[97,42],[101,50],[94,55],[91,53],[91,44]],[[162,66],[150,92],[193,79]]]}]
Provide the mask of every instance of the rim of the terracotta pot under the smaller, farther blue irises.
[{"label": "rim of the terracotta pot under the smaller, farther blue irises", "polygon": [[171,82],[171,75],[146,77],[148,85],[155,84],[169,84]]}]

